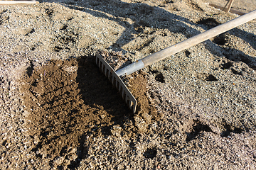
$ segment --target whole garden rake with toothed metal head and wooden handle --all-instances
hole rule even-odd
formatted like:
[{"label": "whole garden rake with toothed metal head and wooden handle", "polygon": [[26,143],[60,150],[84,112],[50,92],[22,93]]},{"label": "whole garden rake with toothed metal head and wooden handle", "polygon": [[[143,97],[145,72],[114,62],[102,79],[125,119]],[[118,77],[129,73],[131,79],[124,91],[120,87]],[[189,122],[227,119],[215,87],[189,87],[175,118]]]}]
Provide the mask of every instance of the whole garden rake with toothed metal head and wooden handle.
[{"label": "whole garden rake with toothed metal head and wooden handle", "polygon": [[164,50],[156,52],[152,55],[144,57],[141,60],[137,60],[136,62],[129,64],[127,67],[117,70],[117,72],[110,67],[110,65],[102,58],[102,56],[97,53],[96,54],[96,64],[100,67],[100,70],[105,74],[105,76],[111,81],[111,83],[117,87],[120,92],[122,98],[127,103],[129,108],[133,113],[136,113],[137,100],[134,98],[132,93],[129,91],[127,86],[125,86],[122,79],[119,76],[129,75],[133,72],[136,72],[139,69],[143,69],[146,66],[153,64],[154,62],[158,62],[163,60],[166,57],[176,54],[181,50],[185,50],[193,45],[197,45],[209,38],[213,38],[221,33],[225,33],[228,30],[231,30],[237,26],[242,25],[243,23],[247,23],[248,21],[252,21],[256,18],[256,10],[250,13],[247,13],[243,16],[235,18],[231,21],[221,24],[220,26],[216,26],[215,28],[211,28],[203,33],[200,33],[192,38],[188,38],[187,40],[183,40],[182,42],[178,42],[176,45],[172,45],[171,47],[167,47]]}]

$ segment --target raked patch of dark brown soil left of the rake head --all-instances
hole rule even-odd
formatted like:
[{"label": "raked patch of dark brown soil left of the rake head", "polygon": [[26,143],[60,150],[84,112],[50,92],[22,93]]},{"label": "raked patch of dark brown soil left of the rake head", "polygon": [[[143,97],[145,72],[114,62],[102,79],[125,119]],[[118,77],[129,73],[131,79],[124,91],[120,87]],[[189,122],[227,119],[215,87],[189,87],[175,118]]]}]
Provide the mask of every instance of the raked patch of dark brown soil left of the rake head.
[{"label": "raked patch of dark brown soil left of the rake head", "polygon": [[[36,141],[33,151],[38,162],[49,159],[54,165],[54,159],[65,156],[63,165],[78,166],[87,156],[83,142],[88,134],[111,135],[113,125],[133,119],[117,89],[88,57],[28,67],[21,82],[23,101],[30,112],[27,128]],[[128,137],[135,132],[133,126],[122,131]],[[73,148],[80,154],[70,159]]]}]

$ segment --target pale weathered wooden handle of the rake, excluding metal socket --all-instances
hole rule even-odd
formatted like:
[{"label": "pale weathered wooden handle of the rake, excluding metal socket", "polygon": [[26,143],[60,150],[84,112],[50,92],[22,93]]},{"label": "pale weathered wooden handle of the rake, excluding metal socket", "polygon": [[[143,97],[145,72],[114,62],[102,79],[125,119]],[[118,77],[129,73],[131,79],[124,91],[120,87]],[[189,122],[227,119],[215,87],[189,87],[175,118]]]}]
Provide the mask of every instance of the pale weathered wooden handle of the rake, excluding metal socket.
[{"label": "pale weathered wooden handle of the rake, excluding metal socket", "polygon": [[256,10],[252,11],[250,13],[247,13],[243,16],[240,16],[238,18],[235,18],[231,21],[228,21],[227,23],[223,23],[220,26],[211,28],[210,30],[207,30],[201,34],[196,35],[196,36],[193,36],[192,38],[183,40],[182,42],[179,42],[176,45],[172,45],[171,47],[167,47],[166,49],[156,52],[153,55],[144,57],[142,59],[142,62],[144,63],[144,66],[146,67],[148,65],[153,64],[154,62],[163,60],[164,58],[174,55],[177,52],[180,52],[181,50],[185,50],[189,47],[192,47],[193,45],[197,45],[200,42],[208,40],[209,38],[213,38],[216,35],[220,35],[221,33],[231,30],[232,28],[235,28],[237,26],[240,26],[243,23],[247,23],[248,21],[251,21],[255,18],[256,18]]}]

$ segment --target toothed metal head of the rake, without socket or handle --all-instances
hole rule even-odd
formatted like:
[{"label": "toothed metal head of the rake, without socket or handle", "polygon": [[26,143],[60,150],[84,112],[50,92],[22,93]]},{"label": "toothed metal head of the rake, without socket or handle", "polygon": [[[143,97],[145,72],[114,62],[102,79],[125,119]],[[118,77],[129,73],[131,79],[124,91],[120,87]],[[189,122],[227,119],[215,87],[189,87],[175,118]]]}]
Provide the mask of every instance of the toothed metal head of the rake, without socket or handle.
[{"label": "toothed metal head of the rake, without socket or handle", "polygon": [[133,113],[136,112],[137,100],[131,94],[127,86],[125,86],[124,82],[120,77],[114,72],[114,69],[108,64],[102,56],[97,53],[96,54],[96,64],[100,68],[100,70],[105,74],[107,79],[117,88],[125,103],[129,106]]}]

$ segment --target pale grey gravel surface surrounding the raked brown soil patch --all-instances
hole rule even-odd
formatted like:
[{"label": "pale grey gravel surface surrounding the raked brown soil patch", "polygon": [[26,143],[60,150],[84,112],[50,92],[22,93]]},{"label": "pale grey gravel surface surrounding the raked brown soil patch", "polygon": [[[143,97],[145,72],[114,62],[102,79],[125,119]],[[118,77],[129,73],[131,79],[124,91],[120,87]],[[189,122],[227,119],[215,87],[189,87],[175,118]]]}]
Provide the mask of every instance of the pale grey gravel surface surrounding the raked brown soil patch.
[{"label": "pale grey gravel surface surrounding the raked brown soil patch", "polygon": [[255,169],[255,22],[143,69],[147,96],[163,114],[137,121],[148,133],[129,138],[116,125],[86,135],[82,153],[67,148],[50,163],[34,152],[41,140],[25,128],[25,72],[97,50],[122,52],[127,64],[238,17],[201,1],[54,2],[0,6],[1,169]]}]

